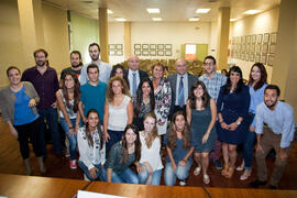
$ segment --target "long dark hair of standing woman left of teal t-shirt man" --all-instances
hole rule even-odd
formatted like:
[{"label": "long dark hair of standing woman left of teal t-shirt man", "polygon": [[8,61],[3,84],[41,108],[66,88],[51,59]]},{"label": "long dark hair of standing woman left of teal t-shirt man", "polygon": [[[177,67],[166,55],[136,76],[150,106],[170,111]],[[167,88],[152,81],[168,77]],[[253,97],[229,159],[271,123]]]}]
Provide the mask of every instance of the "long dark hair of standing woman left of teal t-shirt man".
[{"label": "long dark hair of standing woman left of teal t-shirt man", "polygon": [[78,111],[78,105],[79,105],[79,101],[80,101],[80,84],[79,84],[79,80],[76,76],[76,74],[69,72],[69,73],[66,73],[64,75],[64,79],[63,79],[63,85],[62,85],[62,90],[63,90],[63,96],[66,100],[66,107],[70,108],[70,103],[69,103],[69,96],[68,96],[68,91],[67,91],[67,88],[65,86],[65,78],[66,76],[72,76],[72,78],[74,79],[74,82],[75,82],[75,86],[74,86],[74,112],[77,112]]}]

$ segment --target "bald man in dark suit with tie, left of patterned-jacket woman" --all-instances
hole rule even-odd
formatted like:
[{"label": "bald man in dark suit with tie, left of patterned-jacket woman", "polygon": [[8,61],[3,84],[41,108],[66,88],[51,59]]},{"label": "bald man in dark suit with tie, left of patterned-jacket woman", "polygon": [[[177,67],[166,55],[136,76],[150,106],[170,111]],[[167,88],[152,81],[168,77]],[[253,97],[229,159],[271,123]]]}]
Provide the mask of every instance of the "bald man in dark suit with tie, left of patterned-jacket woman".
[{"label": "bald man in dark suit with tie, left of patterned-jacket woman", "polygon": [[135,95],[140,81],[142,78],[148,77],[147,73],[144,70],[140,70],[140,59],[138,56],[131,56],[128,58],[128,72],[125,73],[125,77],[129,80],[130,92],[131,95]]}]

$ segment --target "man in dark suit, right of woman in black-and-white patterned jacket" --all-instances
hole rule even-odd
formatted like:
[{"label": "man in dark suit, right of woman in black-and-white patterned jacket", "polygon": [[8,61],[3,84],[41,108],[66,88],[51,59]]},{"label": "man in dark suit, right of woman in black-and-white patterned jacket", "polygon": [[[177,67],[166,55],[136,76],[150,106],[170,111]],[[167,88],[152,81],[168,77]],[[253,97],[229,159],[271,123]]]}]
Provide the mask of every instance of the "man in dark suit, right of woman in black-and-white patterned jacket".
[{"label": "man in dark suit, right of woman in black-and-white patterned jacket", "polygon": [[198,80],[196,76],[187,73],[187,64],[183,58],[175,62],[175,69],[176,73],[167,77],[172,86],[170,118],[178,110],[186,112],[186,103],[190,88],[193,84]]}]

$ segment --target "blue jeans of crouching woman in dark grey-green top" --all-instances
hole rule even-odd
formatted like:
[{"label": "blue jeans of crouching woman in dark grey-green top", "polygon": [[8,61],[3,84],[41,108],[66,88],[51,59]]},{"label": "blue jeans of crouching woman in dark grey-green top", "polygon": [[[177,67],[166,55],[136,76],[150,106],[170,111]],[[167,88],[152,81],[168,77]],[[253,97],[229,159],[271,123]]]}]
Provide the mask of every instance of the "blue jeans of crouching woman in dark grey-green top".
[{"label": "blue jeans of crouching woman in dark grey-green top", "polygon": [[[107,169],[102,170],[105,178],[107,178]],[[117,174],[114,170],[111,176],[112,183],[128,183],[128,184],[139,184],[138,175],[132,172],[130,168],[127,168],[124,172]]]}]

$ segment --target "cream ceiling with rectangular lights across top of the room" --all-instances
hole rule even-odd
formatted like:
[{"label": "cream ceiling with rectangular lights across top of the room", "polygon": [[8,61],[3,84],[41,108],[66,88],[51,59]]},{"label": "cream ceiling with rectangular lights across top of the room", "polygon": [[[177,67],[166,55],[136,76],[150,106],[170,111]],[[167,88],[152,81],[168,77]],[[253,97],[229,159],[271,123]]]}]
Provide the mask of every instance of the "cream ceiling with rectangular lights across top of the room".
[{"label": "cream ceiling with rectangular lights across top of the room", "polygon": [[[217,21],[218,9],[230,7],[230,19],[242,19],[246,10],[266,11],[277,7],[280,0],[43,0],[43,2],[75,11],[91,19],[98,19],[98,8],[113,11],[108,20],[125,18],[131,22],[150,22],[153,16],[165,22],[186,22],[198,16],[202,22]],[[160,14],[148,14],[146,8],[160,8]],[[206,14],[197,14],[198,8],[210,8]]]}]

